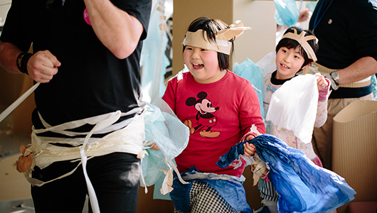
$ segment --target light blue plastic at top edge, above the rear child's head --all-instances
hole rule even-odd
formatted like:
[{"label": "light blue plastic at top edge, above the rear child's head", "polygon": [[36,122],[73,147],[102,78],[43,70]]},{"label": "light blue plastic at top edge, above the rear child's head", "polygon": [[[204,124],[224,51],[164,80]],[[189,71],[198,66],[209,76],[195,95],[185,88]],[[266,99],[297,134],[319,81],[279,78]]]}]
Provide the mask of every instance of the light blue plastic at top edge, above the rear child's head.
[{"label": "light blue plastic at top edge, above the rear child's head", "polygon": [[294,0],[274,0],[275,21],[278,25],[292,26],[299,21],[299,9]]}]

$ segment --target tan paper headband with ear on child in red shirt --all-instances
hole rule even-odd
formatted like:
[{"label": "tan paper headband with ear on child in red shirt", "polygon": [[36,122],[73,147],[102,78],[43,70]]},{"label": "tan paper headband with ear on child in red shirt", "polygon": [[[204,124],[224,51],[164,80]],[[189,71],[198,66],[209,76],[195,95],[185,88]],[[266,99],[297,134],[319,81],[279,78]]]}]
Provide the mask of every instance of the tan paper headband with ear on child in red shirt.
[{"label": "tan paper headband with ear on child in red shirt", "polygon": [[203,30],[187,32],[182,44],[230,55],[232,43],[229,40],[239,38],[240,35],[243,34],[243,31],[250,30],[251,28],[244,27],[240,20],[235,21],[235,23],[232,23],[229,27],[230,28],[216,33],[216,41],[209,41],[207,32]]}]

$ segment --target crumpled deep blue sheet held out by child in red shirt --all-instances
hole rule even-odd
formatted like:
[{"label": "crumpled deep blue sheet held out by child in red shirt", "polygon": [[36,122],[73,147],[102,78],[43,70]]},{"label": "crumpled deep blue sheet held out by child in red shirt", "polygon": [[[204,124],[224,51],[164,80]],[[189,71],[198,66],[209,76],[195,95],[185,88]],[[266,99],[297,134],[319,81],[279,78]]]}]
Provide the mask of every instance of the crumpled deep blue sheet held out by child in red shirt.
[{"label": "crumpled deep blue sheet held out by child in red shirt", "polygon": [[[280,195],[279,212],[329,212],[354,200],[356,192],[344,178],[315,165],[302,151],[279,138],[264,134],[243,143],[253,143],[260,158],[269,163],[268,178]],[[233,146],[229,151],[233,154],[225,155],[238,156],[241,149],[243,146]],[[221,157],[222,162],[216,165],[229,165],[233,160]]]}]

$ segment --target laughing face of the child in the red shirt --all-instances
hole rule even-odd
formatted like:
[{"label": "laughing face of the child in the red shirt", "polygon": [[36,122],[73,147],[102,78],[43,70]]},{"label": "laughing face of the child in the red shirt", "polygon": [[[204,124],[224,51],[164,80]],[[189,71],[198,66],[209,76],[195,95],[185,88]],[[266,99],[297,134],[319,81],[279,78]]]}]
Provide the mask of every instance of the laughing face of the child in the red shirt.
[{"label": "laughing face of the child in the red shirt", "polygon": [[184,62],[194,80],[201,84],[209,84],[221,80],[226,74],[218,66],[218,53],[213,50],[186,45]]}]

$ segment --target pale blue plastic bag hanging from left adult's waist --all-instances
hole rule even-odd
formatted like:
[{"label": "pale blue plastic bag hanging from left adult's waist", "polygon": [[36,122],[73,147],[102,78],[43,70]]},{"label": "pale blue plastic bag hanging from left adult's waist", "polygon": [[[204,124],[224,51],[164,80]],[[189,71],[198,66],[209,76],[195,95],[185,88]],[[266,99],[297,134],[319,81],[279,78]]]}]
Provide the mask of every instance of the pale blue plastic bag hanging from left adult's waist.
[{"label": "pale blue plastic bag hanging from left adult's waist", "polygon": [[161,151],[147,149],[148,155],[142,159],[145,185],[150,186],[165,176],[161,171],[169,170],[165,160],[169,162],[184,151],[190,134],[188,127],[174,115],[169,105],[162,99],[156,99],[153,104],[147,104],[146,110],[144,113],[145,140],[156,143],[161,149]]}]

